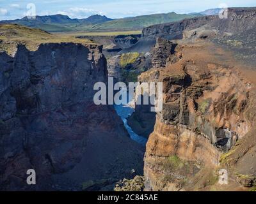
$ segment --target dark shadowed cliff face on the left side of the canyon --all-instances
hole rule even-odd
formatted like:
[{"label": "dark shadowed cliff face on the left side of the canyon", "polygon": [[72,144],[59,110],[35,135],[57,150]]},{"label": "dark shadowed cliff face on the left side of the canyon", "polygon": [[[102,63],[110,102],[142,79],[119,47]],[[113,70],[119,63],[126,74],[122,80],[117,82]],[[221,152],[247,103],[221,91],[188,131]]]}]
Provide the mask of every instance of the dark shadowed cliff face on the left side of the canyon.
[{"label": "dark shadowed cliff face on the left side of the canyon", "polygon": [[[0,54],[0,67],[1,190],[80,189],[140,171],[141,148],[122,120],[93,103],[93,85],[108,77],[101,46],[19,46],[14,57]],[[26,184],[31,168],[36,186]]]}]

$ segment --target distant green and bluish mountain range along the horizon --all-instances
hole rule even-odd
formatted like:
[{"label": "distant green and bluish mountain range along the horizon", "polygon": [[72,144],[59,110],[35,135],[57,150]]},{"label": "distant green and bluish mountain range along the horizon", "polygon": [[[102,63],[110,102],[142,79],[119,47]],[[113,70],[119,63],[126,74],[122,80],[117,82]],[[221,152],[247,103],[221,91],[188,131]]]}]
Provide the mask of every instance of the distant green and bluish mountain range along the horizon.
[{"label": "distant green and bluish mountain range along the horizon", "polygon": [[70,18],[67,15],[47,15],[36,16],[31,19],[24,17],[16,20],[2,20],[1,24],[19,24],[28,27],[40,28],[48,32],[68,32],[68,31],[104,31],[104,30],[134,30],[143,29],[154,24],[164,24],[183,20],[184,18],[198,17],[202,15],[217,15],[220,9],[209,9],[199,13],[178,14],[160,13],[152,15],[142,15],[138,17],[111,19],[102,15],[92,15],[88,18]]}]

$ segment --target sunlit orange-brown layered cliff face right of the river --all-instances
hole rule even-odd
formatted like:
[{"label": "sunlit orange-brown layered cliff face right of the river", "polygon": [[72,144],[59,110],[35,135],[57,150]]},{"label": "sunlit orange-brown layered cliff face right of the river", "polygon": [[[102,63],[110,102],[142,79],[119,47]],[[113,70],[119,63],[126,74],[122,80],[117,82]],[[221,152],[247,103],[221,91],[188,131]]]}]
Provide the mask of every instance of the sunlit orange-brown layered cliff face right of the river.
[{"label": "sunlit orange-brown layered cliff face right of the river", "polygon": [[205,171],[218,169],[221,154],[252,128],[251,85],[230,64],[213,57],[209,50],[218,51],[212,46],[180,45],[180,61],[139,77],[140,82],[163,82],[164,94],[147,143],[146,190],[195,190],[196,182],[202,182],[198,188],[211,186],[207,180],[212,173]]}]

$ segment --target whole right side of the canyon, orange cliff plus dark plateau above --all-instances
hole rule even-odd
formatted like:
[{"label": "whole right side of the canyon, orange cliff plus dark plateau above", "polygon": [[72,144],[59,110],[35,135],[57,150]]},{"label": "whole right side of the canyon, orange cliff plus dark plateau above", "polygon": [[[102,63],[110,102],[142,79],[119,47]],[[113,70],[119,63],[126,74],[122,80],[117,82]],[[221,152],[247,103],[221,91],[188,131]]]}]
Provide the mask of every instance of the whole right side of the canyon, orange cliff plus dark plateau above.
[{"label": "whole right side of the canyon, orange cliff plus dark plateau above", "polygon": [[[136,133],[148,137],[144,191],[255,186],[255,24],[255,8],[230,8],[227,19],[198,17],[143,29],[137,44],[145,44],[151,63],[138,82],[164,87],[156,119],[145,106],[128,118]],[[227,171],[227,185],[218,182],[220,170]],[[116,190],[136,186],[124,180]]]}]

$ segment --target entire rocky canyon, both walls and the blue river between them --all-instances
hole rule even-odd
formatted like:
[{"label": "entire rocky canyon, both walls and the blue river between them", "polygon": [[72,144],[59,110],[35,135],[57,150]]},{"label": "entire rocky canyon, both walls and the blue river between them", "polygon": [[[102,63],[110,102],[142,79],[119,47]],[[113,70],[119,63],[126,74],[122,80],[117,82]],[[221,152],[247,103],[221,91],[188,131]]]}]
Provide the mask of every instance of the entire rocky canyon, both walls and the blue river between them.
[{"label": "entire rocky canyon, both walls and the blue river between them", "polygon": [[[256,8],[229,8],[228,18],[150,25],[141,36],[35,50],[1,40],[15,48],[0,54],[0,189],[253,190],[255,25]],[[95,105],[93,85],[108,77],[163,82],[163,110]],[[36,187],[25,183],[30,168]]]}]

